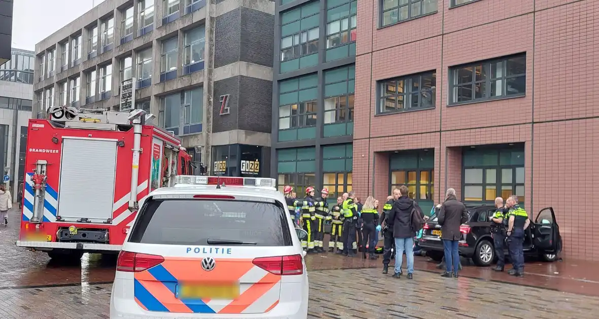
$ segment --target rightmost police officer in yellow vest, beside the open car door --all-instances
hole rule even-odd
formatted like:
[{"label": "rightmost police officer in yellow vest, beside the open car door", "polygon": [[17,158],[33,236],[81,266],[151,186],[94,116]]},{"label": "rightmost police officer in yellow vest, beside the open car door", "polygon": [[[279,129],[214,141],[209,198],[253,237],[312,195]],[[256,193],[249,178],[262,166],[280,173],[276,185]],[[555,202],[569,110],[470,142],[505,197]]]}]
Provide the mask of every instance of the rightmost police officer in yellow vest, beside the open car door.
[{"label": "rightmost police officer in yellow vest, beside the open car door", "polygon": [[518,196],[507,199],[506,207],[509,220],[507,223],[507,242],[510,247],[510,258],[514,269],[508,273],[516,277],[524,277],[524,231],[530,225],[527,212],[518,205]]}]

